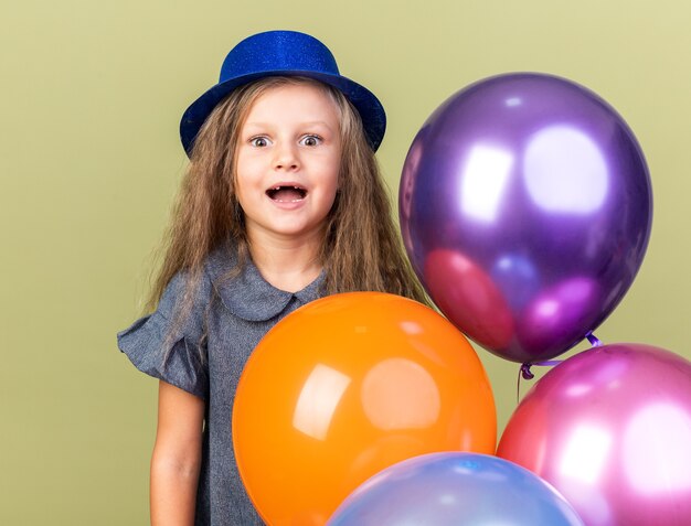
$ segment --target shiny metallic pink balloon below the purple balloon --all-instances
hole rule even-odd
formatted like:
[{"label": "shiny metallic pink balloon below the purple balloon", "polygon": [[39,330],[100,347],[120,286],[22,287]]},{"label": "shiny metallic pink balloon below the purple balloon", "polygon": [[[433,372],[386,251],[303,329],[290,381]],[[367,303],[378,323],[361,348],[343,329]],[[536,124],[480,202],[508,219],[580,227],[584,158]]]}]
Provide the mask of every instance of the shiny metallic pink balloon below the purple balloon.
[{"label": "shiny metallic pink balloon below the purple balloon", "polygon": [[580,353],[525,395],[497,454],[553,484],[587,526],[688,526],[691,362],[640,344]]}]

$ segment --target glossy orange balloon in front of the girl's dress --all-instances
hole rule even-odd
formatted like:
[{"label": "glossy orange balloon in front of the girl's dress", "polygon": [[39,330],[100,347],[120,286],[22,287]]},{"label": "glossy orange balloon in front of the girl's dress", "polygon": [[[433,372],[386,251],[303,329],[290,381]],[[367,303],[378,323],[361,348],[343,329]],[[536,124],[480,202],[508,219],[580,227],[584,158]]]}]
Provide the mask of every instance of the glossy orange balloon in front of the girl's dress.
[{"label": "glossy orange balloon in front of the girl's dress", "polygon": [[362,482],[436,451],[495,453],[489,380],[465,336],[415,301],[313,301],[252,354],[233,408],[241,476],[269,525],[322,525]]}]

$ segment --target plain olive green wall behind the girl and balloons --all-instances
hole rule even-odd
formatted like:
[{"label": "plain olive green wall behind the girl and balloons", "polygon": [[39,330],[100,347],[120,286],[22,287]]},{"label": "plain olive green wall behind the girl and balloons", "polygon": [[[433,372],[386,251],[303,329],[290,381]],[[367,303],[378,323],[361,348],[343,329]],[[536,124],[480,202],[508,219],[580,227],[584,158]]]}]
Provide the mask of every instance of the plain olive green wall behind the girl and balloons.
[{"label": "plain olive green wall behind the girl and balloons", "polygon": [[[315,34],[378,94],[394,195],[415,132],[463,86],[538,71],[598,93],[646,152],[655,221],[597,335],[691,358],[690,20],[681,0],[3,2],[0,523],[147,523],[157,383],[115,333],[140,312],[183,171],[179,118],[232,45],[262,30]],[[518,366],[479,353],[501,430]]]}]

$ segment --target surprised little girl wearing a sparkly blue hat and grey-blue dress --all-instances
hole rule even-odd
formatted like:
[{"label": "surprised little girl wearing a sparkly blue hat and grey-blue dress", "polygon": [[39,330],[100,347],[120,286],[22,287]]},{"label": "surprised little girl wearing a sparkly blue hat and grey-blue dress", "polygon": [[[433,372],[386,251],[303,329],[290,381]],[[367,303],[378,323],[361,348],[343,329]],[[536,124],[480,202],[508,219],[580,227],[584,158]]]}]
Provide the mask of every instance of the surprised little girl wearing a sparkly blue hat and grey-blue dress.
[{"label": "surprised little girl wearing a sparkly blue hat and grey-blue dress", "polygon": [[425,301],[374,158],[374,95],[318,40],[256,34],[182,117],[190,164],[151,294],[118,334],[160,379],[152,524],[262,524],[240,479],[231,412],[243,366],[281,318],[325,294]]}]

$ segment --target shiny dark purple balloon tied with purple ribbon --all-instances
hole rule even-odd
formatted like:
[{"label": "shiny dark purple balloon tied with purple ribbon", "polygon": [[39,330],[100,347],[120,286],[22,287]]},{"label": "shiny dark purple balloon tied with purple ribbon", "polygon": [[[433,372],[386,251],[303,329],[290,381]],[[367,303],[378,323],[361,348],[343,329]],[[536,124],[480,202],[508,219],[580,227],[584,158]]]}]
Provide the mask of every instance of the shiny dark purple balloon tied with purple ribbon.
[{"label": "shiny dark purple balloon tied with purple ribbon", "polygon": [[[447,318],[492,353],[534,362],[576,345],[619,303],[648,246],[652,196],[612,106],[524,73],[480,80],[432,114],[403,168],[400,213],[413,267]],[[439,286],[427,264],[439,250],[492,281],[510,341],[488,337],[481,302],[459,303],[466,275],[446,272]]]}]

